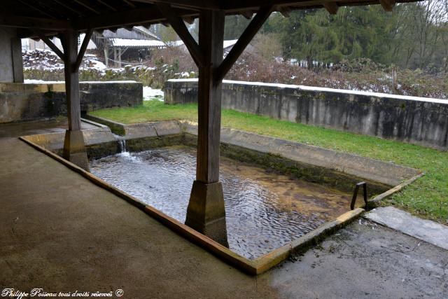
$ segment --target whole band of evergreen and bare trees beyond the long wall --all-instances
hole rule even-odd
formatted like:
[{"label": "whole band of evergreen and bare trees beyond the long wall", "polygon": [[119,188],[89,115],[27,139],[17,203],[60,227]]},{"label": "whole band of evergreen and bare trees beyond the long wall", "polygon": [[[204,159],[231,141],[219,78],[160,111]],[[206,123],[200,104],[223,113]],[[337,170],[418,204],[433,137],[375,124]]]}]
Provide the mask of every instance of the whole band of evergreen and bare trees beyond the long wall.
[{"label": "whole band of evergreen and bare trees beyond the long wall", "polygon": [[381,64],[448,71],[448,0],[398,4],[391,13],[381,6],[273,13],[263,33],[281,36],[283,55],[320,64],[369,58]]}]

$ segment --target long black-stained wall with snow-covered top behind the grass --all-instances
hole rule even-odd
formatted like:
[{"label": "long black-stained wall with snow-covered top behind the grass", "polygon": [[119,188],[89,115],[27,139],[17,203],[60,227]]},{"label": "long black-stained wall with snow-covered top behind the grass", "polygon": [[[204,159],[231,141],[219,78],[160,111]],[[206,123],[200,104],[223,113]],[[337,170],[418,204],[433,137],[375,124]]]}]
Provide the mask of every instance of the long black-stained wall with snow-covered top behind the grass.
[{"label": "long black-stained wall with snow-covered top behind the grass", "polygon": [[[165,83],[165,103],[197,102],[197,79]],[[448,101],[224,81],[224,109],[447,149]]]}]

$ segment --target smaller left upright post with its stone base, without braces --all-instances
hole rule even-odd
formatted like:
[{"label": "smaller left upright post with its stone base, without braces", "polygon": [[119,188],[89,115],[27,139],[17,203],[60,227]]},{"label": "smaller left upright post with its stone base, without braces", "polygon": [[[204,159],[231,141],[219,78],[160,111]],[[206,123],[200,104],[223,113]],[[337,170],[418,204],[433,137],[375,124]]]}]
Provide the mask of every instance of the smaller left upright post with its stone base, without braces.
[{"label": "smaller left upright post with its stone base, without braces", "polygon": [[[87,36],[87,35],[86,35]],[[83,132],[81,131],[79,76],[76,61],[78,60],[78,32],[64,33],[64,73],[67,118],[69,130],[64,139],[64,159],[88,170],[87,153],[85,151]],[[84,55],[84,53],[80,53]]]}]

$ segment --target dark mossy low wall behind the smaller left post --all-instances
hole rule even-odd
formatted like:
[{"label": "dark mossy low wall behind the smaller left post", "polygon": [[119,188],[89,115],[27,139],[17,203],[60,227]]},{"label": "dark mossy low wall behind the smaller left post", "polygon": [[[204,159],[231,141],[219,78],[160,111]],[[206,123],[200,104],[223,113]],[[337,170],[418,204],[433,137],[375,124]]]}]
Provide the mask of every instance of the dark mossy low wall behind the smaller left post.
[{"label": "dark mossy low wall behind the smaller left post", "polygon": [[[143,85],[134,81],[81,82],[81,111],[137,106]],[[66,116],[64,83],[0,83],[0,123]]]}]

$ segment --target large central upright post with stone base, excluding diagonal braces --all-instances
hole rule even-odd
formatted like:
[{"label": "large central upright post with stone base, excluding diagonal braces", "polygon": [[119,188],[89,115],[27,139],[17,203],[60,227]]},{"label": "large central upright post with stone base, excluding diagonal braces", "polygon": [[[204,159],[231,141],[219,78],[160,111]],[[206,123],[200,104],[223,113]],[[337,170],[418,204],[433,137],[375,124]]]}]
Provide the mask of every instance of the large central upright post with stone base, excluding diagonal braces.
[{"label": "large central upright post with stone base, excluding diagonal braces", "polygon": [[228,246],[223,187],[219,181],[221,80],[216,68],[223,61],[224,13],[201,11],[199,46],[198,132],[196,181],[188,203],[186,225]]}]

